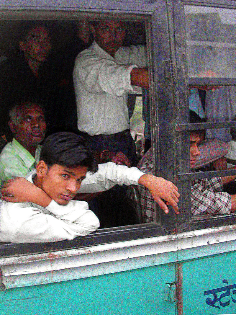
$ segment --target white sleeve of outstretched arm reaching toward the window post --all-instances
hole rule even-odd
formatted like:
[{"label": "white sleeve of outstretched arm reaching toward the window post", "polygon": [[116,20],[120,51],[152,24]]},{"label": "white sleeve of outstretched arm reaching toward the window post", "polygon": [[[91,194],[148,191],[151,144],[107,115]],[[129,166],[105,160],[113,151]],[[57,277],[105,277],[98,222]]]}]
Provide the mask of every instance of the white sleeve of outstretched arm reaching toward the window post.
[{"label": "white sleeve of outstretched arm reaching toward the window post", "polygon": [[94,174],[87,172],[78,193],[102,192],[115,185],[138,185],[139,178],[144,175],[136,167],[116,165],[113,162],[98,164],[98,171]]}]

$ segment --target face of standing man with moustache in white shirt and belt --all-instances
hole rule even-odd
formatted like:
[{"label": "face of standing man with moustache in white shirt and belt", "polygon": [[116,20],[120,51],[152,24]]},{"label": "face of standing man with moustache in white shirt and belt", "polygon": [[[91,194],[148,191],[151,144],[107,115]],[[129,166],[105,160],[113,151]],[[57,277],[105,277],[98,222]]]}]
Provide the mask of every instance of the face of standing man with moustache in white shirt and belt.
[{"label": "face of standing man with moustache in white shirt and belt", "polygon": [[125,22],[101,21],[96,27],[91,25],[91,32],[98,45],[114,57],[115,52],[123,44],[125,38]]}]

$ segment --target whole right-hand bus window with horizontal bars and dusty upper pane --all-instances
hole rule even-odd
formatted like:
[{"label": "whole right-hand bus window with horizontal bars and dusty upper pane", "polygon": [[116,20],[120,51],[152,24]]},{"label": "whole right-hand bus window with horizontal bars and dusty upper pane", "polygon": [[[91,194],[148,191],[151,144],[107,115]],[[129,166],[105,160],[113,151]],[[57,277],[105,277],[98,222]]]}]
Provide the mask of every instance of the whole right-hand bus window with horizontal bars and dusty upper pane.
[{"label": "whole right-hand bus window with horizontal bars and dusty upper pane", "polygon": [[[209,227],[228,225],[235,221],[236,176],[235,168],[229,168],[235,164],[236,152],[233,139],[236,114],[236,10],[184,5],[184,12],[189,109],[202,118],[191,124],[190,112],[190,124],[186,123],[184,128],[190,134],[190,164],[194,160],[191,152],[194,152],[195,158],[198,155],[202,159],[197,161],[199,165],[196,167],[190,165],[192,173],[187,176],[188,180],[191,179],[192,223],[189,227],[196,227],[193,222]],[[197,147],[191,151],[194,141],[199,146],[199,152]],[[232,165],[227,164],[229,157],[234,159],[230,159]],[[193,173],[194,169],[197,172]],[[199,173],[199,169],[203,172]],[[227,175],[232,176],[227,178]],[[230,185],[224,185],[229,182]]]}]

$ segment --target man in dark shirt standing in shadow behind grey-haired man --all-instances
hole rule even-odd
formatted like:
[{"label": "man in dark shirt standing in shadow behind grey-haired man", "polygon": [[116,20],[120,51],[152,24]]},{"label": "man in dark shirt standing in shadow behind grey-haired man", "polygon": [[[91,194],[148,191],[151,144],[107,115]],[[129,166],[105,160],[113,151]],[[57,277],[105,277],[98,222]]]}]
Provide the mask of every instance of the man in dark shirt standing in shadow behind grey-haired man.
[{"label": "man in dark shirt standing in shadow behind grey-haired man", "polygon": [[42,21],[24,23],[19,40],[19,52],[6,60],[0,75],[1,135],[11,140],[8,112],[18,99],[36,96],[45,105],[48,132],[56,125],[55,90],[59,76],[57,67],[49,57],[51,37]]}]

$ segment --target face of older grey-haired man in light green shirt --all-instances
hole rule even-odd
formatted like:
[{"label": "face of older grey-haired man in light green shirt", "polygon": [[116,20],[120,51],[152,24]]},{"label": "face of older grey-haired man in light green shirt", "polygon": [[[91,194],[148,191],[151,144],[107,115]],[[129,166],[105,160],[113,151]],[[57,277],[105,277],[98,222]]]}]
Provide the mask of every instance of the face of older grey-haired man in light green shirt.
[{"label": "face of older grey-haired man in light green shirt", "polygon": [[17,113],[17,123],[10,128],[22,146],[37,145],[44,139],[46,132],[42,109],[36,104],[21,106]]}]

